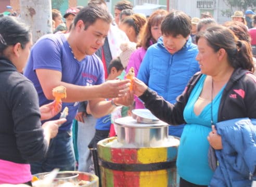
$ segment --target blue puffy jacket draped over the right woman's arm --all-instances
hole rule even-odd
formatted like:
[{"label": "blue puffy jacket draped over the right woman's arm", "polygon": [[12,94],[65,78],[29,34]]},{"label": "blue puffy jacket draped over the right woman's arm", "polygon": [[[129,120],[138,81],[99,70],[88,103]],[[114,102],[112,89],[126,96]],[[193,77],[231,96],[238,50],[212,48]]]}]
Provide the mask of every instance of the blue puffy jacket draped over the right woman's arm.
[{"label": "blue puffy jacket draped over the right woman's arm", "polygon": [[[222,137],[222,150],[216,150],[219,166],[210,182],[211,187],[251,186],[256,166],[255,119],[236,118],[216,124]],[[255,180],[255,179],[254,179]]]}]

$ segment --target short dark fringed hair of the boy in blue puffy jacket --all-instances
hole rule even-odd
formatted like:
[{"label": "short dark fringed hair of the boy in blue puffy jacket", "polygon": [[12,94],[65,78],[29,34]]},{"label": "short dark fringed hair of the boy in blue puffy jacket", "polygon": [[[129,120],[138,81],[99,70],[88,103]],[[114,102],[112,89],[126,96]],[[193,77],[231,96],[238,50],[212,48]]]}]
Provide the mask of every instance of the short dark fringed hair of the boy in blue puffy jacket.
[{"label": "short dark fringed hair of the boy in blue puffy jacket", "polygon": [[170,12],[161,23],[161,32],[165,35],[177,36],[181,34],[187,37],[192,29],[191,19],[183,11]]}]

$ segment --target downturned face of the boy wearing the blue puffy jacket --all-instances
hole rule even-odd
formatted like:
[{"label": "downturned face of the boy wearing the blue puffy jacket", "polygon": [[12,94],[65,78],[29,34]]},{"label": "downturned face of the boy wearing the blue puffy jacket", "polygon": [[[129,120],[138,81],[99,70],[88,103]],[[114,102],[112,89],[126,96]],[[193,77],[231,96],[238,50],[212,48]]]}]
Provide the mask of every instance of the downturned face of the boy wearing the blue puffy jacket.
[{"label": "downturned face of the boy wearing the blue puffy jacket", "polygon": [[172,36],[172,35],[166,35],[163,34],[163,45],[165,47],[165,49],[168,50],[168,52],[170,52],[170,54],[175,54],[175,52],[179,51],[182,49],[182,47],[186,44],[187,39],[189,37],[189,35],[187,37],[183,37],[181,34],[178,34],[177,36]]}]

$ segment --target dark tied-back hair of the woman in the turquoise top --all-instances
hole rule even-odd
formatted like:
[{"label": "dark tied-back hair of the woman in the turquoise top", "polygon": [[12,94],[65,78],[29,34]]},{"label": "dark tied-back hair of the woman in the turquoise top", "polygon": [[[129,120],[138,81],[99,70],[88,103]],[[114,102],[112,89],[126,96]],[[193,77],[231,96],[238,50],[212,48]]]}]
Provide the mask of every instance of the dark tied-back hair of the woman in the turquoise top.
[{"label": "dark tied-back hair of the woman in the turquoise top", "polygon": [[250,44],[240,41],[233,31],[222,25],[210,26],[206,31],[200,32],[196,36],[196,43],[199,38],[205,38],[208,46],[215,52],[224,49],[227,53],[228,62],[234,69],[242,68],[254,71],[252,61],[252,51]]}]

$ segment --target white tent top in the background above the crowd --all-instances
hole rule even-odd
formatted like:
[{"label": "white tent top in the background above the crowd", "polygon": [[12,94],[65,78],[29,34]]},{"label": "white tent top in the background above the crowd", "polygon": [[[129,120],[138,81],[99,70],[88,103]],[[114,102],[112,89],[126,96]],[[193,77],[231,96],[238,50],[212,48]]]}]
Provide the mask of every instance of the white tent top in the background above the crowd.
[{"label": "white tent top in the background above the crowd", "polygon": [[135,13],[144,14],[145,16],[150,16],[153,11],[155,11],[157,9],[165,9],[166,10],[166,7],[167,6],[165,6],[165,5],[156,5],[156,4],[144,3],[143,5],[136,5],[133,8],[133,11]]}]

